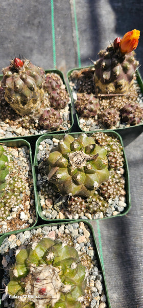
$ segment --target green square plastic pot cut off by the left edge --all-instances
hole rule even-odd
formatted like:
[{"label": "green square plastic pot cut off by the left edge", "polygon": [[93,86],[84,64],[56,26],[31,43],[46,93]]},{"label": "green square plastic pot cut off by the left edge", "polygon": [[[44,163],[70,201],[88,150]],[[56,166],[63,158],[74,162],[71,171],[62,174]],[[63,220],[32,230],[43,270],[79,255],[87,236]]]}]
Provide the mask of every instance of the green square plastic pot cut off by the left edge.
[{"label": "green square plastic pot cut off by the left edge", "polygon": [[[24,139],[14,139],[14,140],[5,140],[5,139],[3,139],[2,141],[1,141],[1,145],[3,146],[3,145],[5,145],[5,146],[7,146],[7,147],[18,147],[18,148],[20,148],[20,147],[22,147],[22,146],[27,146],[27,148],[29,149],[29,161],[30,162],[28,162],[28,163],[30,163],[30,165],[31,165],[31,172],[32,172],[32,178],[33,178],[33,169],[32,169],[32,167],[33,167],[33,162],[32,162],[32,151],[31,151],[31,146],[30,146],[30,143],[28,142],[28,141],[26,141],[26,140],[24,140]],[[20,162],[20,161],[19,161]],[[16,170],[15,170],[15,172],[16,172]],[[33,185],[33,194],[34,194],[34,185]],[[6,205],[6,204],[5,204]],[[36,212],[35,212],[35,222],[33,223],[33,224],[31,224],[31,226],[35,226],[36,225],[36,223],[37,223],[37,218],[38,218],[38,215],[37,215],[37,208],[35,208],[35,210],[36,210]],[[22,211],[22,209],[21,209],[21,211]],[[12,212],[12,213],[14,213],[14,212]],[[16,212],[15,212],[16,213]],[[20,214],[20,213],[19,213]],[[30,226],[30,227],[31,227]],[[27,228],[27,227],[26,227]],[[21,229],[23,229],[23,228],[21,228]],[[18,230],[20,230],[20,228],[18,229]],[[8,231],[9,232],[9,231]],[[12,233],[13,231],[11,230],[11,233]],[[0,236],[2,236],[4,233],[7,233],[7,230],[5,231],[5,232],[2,232],[1,234],[0,234]]]}]

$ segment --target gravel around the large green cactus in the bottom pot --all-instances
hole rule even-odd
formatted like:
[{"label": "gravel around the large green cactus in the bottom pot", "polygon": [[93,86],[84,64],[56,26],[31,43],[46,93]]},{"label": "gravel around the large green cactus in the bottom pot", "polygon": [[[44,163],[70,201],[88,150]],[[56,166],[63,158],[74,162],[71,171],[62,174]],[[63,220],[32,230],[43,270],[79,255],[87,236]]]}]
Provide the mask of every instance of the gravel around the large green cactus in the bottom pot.
[{"label": "gravel around the large green cactus in the bottom pot", "polygon": [[[9,267],[15,262],[15,254],[22,248],[36,244],[42,238],[52,240],[59,239],[68,246],[76,248],[81,264],[86,268],[86,287],[80,302],[82,308],[106,308],[108,307],[105,295],[104,279],[101,267],[98,262],[96,249],[93,244],[92,235],[88,225],[84,222],[62,224],[59,226],[42,226],[37,229],[18,233],[6,237],[1,245],[2,266],[4,268],[4,278],[2,289],[4,290],[9,282]],[[9,295],[3,295],[2,307],[14,307],[14,299]],[[21,304],[21,307],[24,305]]]}]

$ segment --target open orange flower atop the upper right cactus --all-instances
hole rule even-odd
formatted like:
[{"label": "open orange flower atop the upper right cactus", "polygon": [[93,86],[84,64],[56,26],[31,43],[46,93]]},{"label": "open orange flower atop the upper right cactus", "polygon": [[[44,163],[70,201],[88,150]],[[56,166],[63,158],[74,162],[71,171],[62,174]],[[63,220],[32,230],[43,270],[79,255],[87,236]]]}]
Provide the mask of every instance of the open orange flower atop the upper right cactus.
[{"label": "open orange flower atop the upper right cactus", "polygon": [[121,45],[120,45],[121,52],[128,53],[136,49],[138,45],[139,35],[140,35],[140,31],[136,29],[125,33],[125,35],[123,36],[121,40]]}]

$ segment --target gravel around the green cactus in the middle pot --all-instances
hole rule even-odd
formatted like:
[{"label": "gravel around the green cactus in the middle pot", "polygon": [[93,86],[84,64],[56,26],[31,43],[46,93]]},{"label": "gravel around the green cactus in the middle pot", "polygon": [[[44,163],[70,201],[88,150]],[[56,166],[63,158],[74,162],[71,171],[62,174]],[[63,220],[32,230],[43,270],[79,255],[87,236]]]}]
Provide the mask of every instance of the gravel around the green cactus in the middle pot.
[{"label": "gravel around the green cactus in the middle pot", "polygon": [[92,135],[107,149],[109,179],[93,197],[61,196],[48,181],[49,156],[59,139],[44,139],[38,147],[37,191],[42,214],[49,219],[98,219],[121,214],[127,207],[124,178],[124,155],[120,141],[103,132]]}]

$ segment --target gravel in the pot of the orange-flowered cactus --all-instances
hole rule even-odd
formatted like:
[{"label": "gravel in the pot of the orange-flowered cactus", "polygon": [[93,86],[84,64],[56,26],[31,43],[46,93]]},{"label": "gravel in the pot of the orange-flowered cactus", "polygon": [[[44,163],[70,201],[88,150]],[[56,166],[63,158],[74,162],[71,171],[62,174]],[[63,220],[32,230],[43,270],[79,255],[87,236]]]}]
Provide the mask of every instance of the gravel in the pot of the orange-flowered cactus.
[{"label": "gravel in the pot of the orange-flowered cactus", "polygon": [[[134,84],[131,86],[129,93],[121,95],[101,93],[98,94],[97,97],[94,93],[93,73],[94,68],[89,67],[81,70],[74,70],[69,76],[69,85],[75,108],[77,109],[80,128],[88,132],[99,129],[122,129],[132,125],[142,124],[143,97],[136,78],[134,79]],[[78,94],[81,95],[80,99],[77,97]],[[92,107],[91,97],[90,102],[88,102],[89,99],[87,95],[89,94],[93,94],[94,97],[97,98],[97,107],[96,105]],[[82,107],[80,107],[80,100],[82,101]],[[136,106],[136,111],[130,111],[131,115],[128,122],[125,122],[121,115],[121,110],[125,105]],[[92,112],[90,110],[90,114],[92,115],[88,114],[89,109],[92,110]],[[112,112],[112,114],[110,112]]]}]

